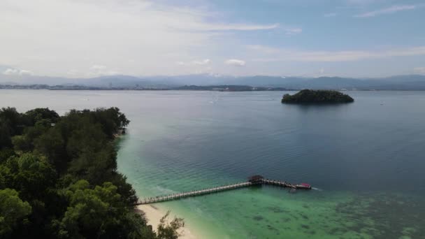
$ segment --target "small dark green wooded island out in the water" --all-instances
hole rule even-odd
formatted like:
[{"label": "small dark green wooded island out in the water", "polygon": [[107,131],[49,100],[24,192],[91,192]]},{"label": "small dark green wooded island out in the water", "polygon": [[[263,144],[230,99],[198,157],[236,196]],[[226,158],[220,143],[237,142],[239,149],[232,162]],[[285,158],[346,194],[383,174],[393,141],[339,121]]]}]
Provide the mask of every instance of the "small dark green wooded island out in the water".
[{"label": "small dark green wooded island out in the water", "polygon": [[335,90],[303,89],[290,95],[284,94],[282,103],[351,103],[354,99],[347,94]]}]

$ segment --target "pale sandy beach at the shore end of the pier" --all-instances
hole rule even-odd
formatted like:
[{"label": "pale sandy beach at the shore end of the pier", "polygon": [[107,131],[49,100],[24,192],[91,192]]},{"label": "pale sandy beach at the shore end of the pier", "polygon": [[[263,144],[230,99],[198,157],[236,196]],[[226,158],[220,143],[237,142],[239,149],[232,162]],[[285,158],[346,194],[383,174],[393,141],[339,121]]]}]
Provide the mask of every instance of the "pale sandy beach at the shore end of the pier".
[{"label": "pale sandy beach at the shore end of the pier", "polygon": [[[166,214],[166,211],[161,210],[155,207],[154,205],[138,205],[137,208],[138,210],[145,212],[147,224],[152,225],[152,229],[154,229],[154,231],[157,231],[159,220],[161,220],[161,217],[164,217],[164,215]],[[169,220],[171,221],[174,217],[178,217],[178,215],[175,215],[173,214],[173,212],[171,212],[170,216],[168,217],[169,217]],[[179,233],[181,235],[179,238],[182,238],[182,239],[202,238],[199,235],[195,235],[194,231],[193,230],[191,231],[191,229],[189,229],[189,227],[187,226],[187,222],[185,222],[185,227],[180,229]]]}]

